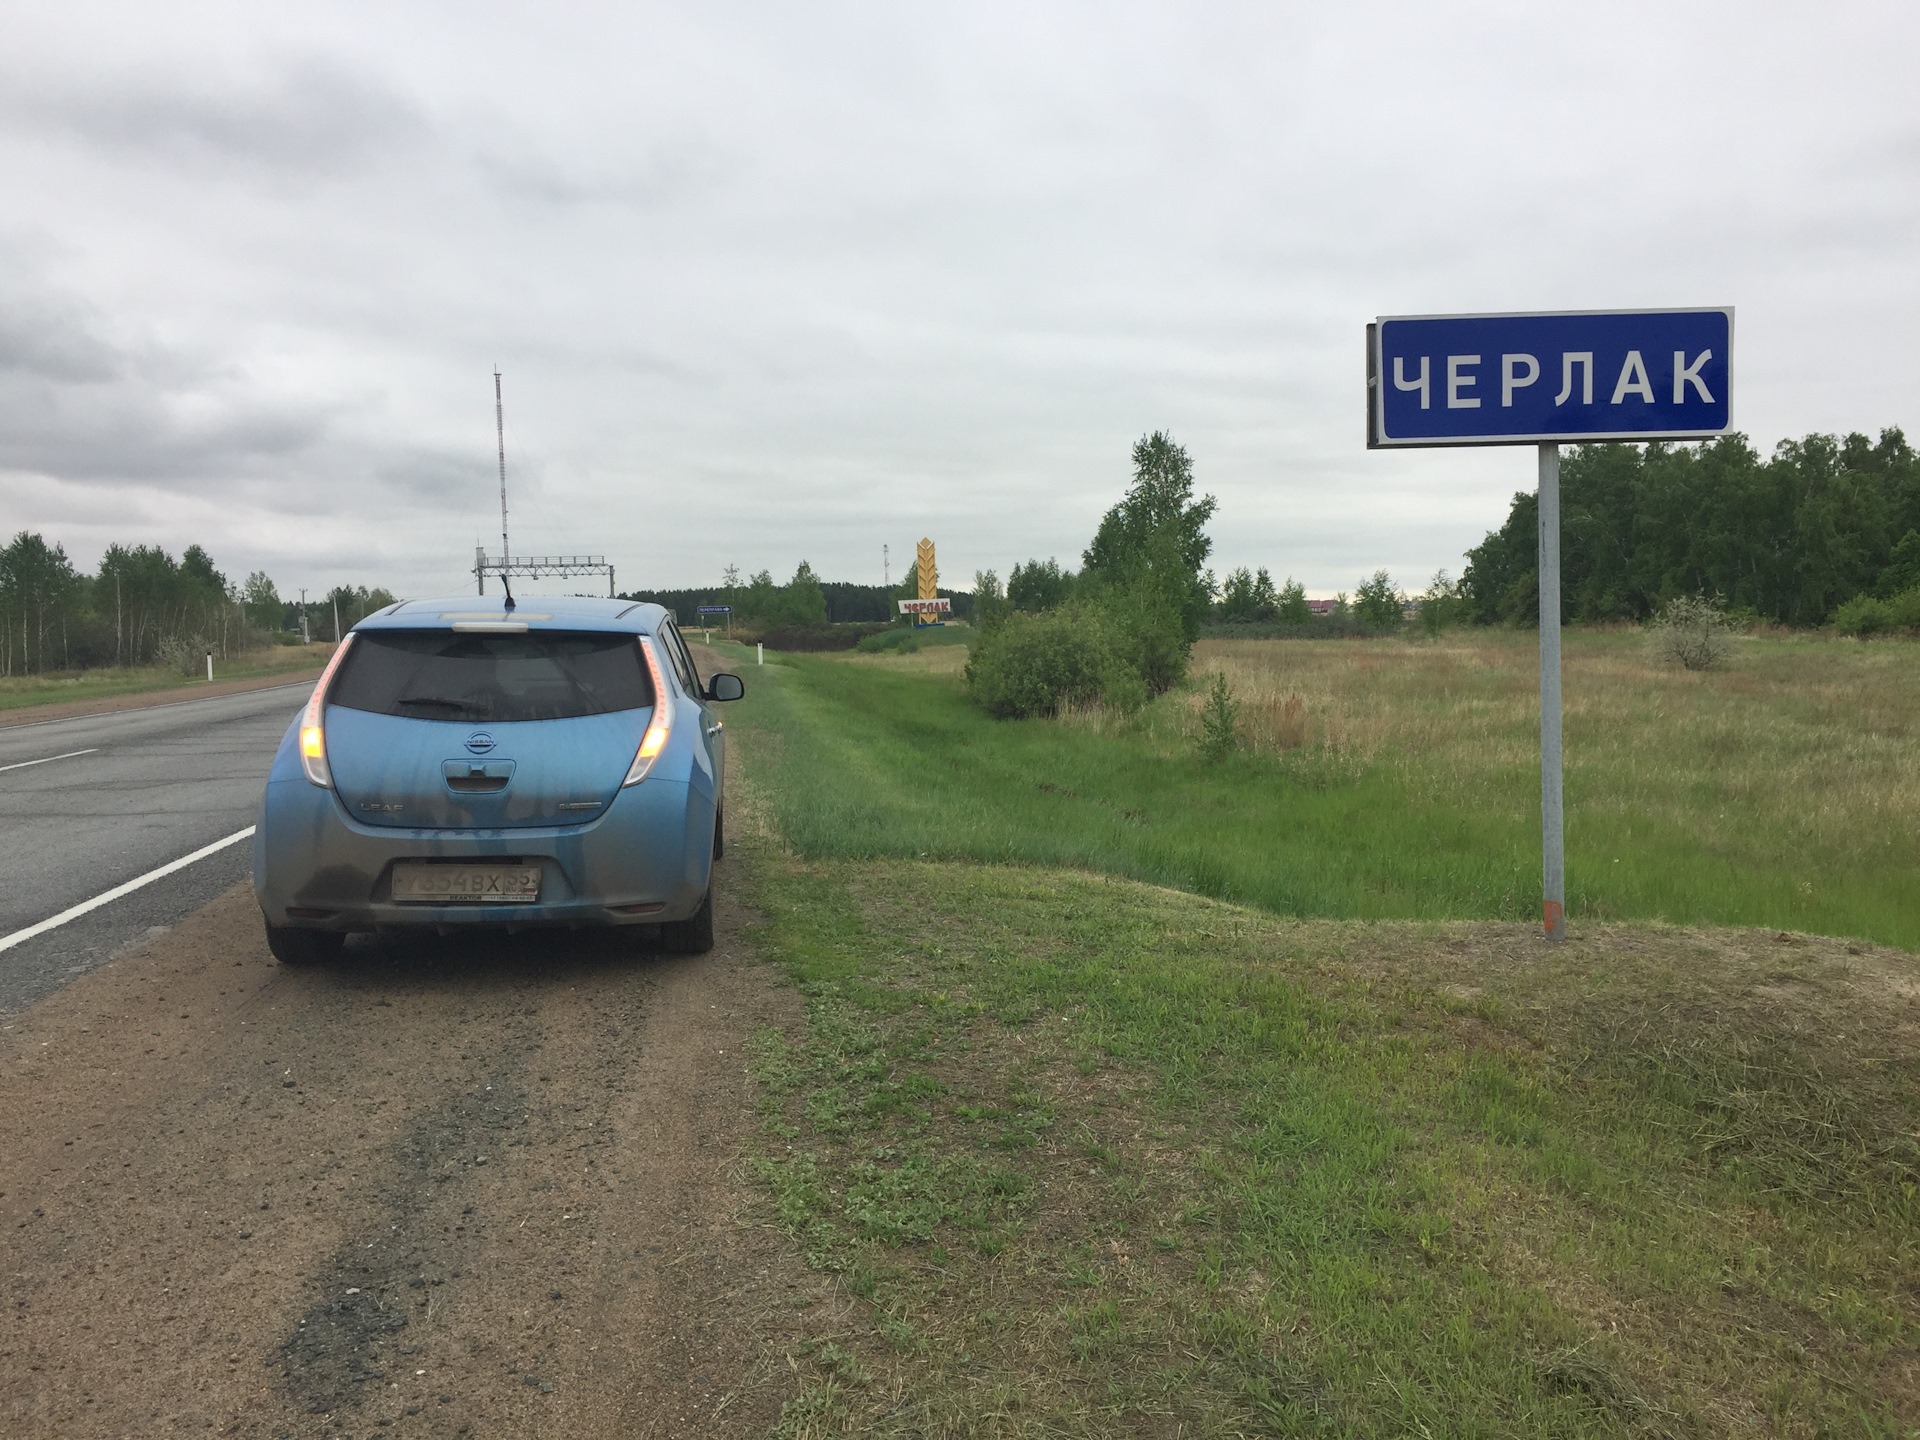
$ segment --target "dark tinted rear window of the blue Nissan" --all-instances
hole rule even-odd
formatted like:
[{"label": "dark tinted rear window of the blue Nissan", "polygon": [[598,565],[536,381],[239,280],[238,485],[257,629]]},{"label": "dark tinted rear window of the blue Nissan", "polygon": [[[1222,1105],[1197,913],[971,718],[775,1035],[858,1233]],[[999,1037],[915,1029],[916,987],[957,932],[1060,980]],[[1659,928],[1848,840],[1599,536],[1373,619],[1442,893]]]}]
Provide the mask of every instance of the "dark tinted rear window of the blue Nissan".
[{"label": "dark tinted rear window of the blue Nissan", "polygon": [[415,720],[570,720],[653,705],[634,636],[361,630],[328,705]]}]

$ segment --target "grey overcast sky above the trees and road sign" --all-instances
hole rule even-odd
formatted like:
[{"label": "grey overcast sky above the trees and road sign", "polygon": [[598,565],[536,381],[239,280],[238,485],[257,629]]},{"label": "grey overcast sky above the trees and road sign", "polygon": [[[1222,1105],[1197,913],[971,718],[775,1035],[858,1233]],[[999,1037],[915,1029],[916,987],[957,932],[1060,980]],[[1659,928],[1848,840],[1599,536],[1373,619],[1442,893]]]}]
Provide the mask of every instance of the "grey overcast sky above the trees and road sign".
[{"label": "grey overcast sky above the trees and road sign", "polygon": [[0,526],[282,593],[603,551],[1419,588],[1526,449],[1367,453],[1375,315],[1732,303],[1736,422],[1920,430],[1907,4],[4,6]]}]

